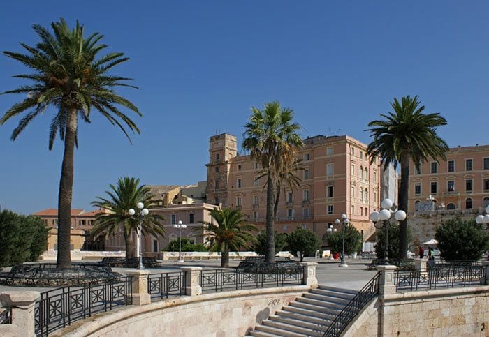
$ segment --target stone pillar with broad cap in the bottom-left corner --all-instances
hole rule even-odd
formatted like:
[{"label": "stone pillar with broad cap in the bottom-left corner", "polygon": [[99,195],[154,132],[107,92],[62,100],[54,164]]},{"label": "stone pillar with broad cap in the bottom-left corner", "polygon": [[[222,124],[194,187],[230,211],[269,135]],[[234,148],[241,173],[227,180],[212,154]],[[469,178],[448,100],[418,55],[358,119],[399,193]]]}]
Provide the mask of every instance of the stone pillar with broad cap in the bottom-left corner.
[{"label": "stone pillar with broad cap in the bottom-left corner", "polygon": [[34,304],[39,292],[2,292],[0,303],[12,308],[12,325],[17,336],[34,337]]}]

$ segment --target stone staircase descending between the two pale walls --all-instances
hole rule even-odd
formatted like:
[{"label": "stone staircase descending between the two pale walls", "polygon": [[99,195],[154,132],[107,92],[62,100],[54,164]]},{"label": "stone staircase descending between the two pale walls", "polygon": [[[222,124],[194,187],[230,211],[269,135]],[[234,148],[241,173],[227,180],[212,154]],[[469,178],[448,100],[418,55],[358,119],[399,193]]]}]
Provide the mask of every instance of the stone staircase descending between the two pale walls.
[{"label": "stone staircase descending between the two pale walls", "polygon": [[277,310],[247,336],[321,337],[356,293],[355,290],[319,285]]}]

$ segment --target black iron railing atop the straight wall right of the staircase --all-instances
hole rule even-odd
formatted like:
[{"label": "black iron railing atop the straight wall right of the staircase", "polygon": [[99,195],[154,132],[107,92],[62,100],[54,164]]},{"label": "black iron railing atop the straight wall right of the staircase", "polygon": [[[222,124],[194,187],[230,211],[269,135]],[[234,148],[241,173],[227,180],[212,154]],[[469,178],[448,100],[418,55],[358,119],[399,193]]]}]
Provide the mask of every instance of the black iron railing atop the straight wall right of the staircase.
[{"label": "black iron railing atop the straight wall right of the staircase", "polygon": [[435,264],[426,270],[395,271],[394,283],[397,291],[471,287],[481,284],[484,272],[480,264]]}]

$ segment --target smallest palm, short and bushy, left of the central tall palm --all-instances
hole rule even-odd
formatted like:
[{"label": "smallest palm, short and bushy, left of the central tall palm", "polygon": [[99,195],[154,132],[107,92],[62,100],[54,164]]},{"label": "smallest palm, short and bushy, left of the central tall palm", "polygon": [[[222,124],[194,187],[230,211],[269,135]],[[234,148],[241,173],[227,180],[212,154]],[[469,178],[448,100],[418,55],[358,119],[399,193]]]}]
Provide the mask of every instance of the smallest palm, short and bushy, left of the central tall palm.
[{"label": "smallest palm, short and bushy, left of the central tall palm", "polygon": [[[256,230],[255,225],[247,223],[245,214],[240,209],[218,209],[215,207],[210,211],[212,222],[201,222],[204,225],[196,227],[196,231],[205,231],[209,235],[207,243],[210,244],[209,251],[221,252],[221,267],[229,267],[229,252],[238,252],[240,248],[248,248],[248,242],[253,240],[249,234]],[[217,224],[214,224],[214,220]]]}]

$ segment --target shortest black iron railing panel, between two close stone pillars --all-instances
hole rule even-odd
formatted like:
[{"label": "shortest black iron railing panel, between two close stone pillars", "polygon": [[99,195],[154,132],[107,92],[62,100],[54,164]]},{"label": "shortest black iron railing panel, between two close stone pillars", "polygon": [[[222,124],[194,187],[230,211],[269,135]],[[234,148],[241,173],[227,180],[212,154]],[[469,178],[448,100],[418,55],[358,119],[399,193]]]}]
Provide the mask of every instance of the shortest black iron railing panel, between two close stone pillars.
[{"label": "shortest black iron railing panel, between two close stone pillars", "polygon": [[175,271],[171,273],[149,274],[147,278],[147,292],[152,298],[168,298],[168,296],[182,296],[185,294],[185,273]]}]

